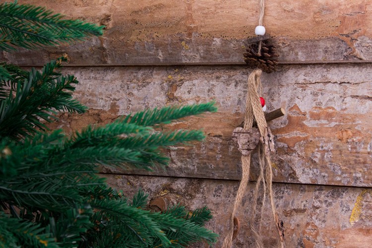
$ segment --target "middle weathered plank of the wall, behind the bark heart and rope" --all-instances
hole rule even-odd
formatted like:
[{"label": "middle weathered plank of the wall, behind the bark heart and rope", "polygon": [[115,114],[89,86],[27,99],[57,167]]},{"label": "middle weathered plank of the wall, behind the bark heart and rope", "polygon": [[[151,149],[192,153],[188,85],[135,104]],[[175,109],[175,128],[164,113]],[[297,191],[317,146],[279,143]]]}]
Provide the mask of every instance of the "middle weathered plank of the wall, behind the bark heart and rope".
[{"label": "middle weathered plank of the wall, behind the bark heart and rope", "polygon": [[[66,118],[66,130],[88,122],[107,123],[110,118],[143,108],[215,99],[217,113],[167,126],[203,128],[208,134],[204,142],[173,147],[169,151],[170,167],[165,172],[132,173],[240,179],[241,155],[231,135],[243,121],[250,70],[202,66],[84,68],[66,72],[79,78],[75,97],[91,108],[80,118]],[[269,124],[277,136],[274,181],[372,186],[371,66],[287,66],[263,74],[262,82],[268,111],[282,107],[287,112]],[[110,168],[104,172],[119,173]]]}]

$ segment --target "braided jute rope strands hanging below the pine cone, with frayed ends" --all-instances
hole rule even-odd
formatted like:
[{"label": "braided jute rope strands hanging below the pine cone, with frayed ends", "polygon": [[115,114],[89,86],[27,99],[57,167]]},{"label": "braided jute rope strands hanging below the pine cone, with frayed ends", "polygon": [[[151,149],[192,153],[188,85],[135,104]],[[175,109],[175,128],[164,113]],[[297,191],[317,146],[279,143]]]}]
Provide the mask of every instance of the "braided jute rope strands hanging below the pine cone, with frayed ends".
[{"label": "braided jute rope strands hanging below the pine cone, with frayed ends", "polygon": [[[252,234],[255,237],[255,242],[258,248],[263,248],[262,237],[260,236],[261,229],[261,219],[263,214],[263,207],[265,203],[266,191],[269,195],[270,205],[272,209],[272,214],[275,220],[275,223],[278,223],[278,217],[276,213],[276,208],[274,204],[274,195],[272,191],[272,166],[270,160],[270,151],[273,150],[272,144],[270,143],[270,129],[267,126],[264,113],[260,104],[259,96],[261,95],[261,76],[262,71],[260,69],[255,69],[250,73],[248,77],[248,91],[246,98],[246,117],[244,122],[244,129],[249,130],[253,125],[253,119],[257,123],[257,127],[260,133],[260,142],[258,144],[258,162],[260,166],[260,173],[258,175],[256,186],[253,193],[254,202],[252,205],[252,218],[250,221],[250,227]],[[240,182],[236,199],[233,206],[233,212],[230,220],[230,230],[227,237],[224,240],[223,248],[231,248],[233,243],[233,233],[234,233],[234,218],[238,211],[239,205],[242,201],[242,198],[246,192],[246,188],[249,181],[249,171],[250,171],[250,154],[242,154],[242,180]],[[258,193],[262,185],[263,191],[263,202],[260,208],[260,217],[259,217],[259,226],[258,230],[256,229],[255,217],[256,217],[256,208],[257,208],[257,199]],[[278,227],[277,227],[278,228]],[[281,241],[281,247],[284,247],[284,235],[279,231],[279,237]]]}]

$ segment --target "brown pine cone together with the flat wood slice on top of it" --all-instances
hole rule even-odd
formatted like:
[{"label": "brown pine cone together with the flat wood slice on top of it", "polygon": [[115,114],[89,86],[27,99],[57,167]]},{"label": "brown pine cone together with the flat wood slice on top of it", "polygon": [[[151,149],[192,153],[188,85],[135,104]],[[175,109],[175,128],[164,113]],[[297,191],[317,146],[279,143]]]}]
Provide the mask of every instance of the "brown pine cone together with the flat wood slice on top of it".
[{"label": "brown pine cone together with the flat wood slice on top of it", "polygon": [[[266,73],[276,71],[279,55],[270,35],[248,38],[247,43],[248,48],[244,53],[244,61],[249,67],[257,67]],[[259,43],[261,43],[261,46]]]}]

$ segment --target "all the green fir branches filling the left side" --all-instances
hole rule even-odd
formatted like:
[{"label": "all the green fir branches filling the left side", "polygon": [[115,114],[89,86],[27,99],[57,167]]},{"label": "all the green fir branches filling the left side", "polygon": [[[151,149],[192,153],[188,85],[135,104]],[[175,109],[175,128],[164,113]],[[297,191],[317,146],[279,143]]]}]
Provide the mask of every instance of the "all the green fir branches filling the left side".
[{"label": "all the green fir branches filling the left side", "polygon": [[[0,4],[0,50],[70,43],[103,27],[64,20],[43,7]],[[160,148],[200,141],[201,130],[158,131],[159,124],[215,112],[214,103],[147,110],[66,136],[49,130],[58,111],[84,113],[72,98],[77,79],[62,75],[65,58],[41,70],[0,63],[0,247],[185,247],[217,235],[204,227],[207,208],[146,210],[106,185],[98,166],[165,167]]]}]

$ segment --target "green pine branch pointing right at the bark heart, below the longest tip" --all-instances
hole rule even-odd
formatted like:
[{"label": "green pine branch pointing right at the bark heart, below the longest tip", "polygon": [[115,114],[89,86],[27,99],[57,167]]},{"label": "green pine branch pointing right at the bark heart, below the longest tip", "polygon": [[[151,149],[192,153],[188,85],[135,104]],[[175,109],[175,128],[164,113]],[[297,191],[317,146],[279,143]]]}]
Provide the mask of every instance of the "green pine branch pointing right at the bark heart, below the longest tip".
[{"label": "green pine branch pointing right at the bark heart, below the longest tip", "polygon": [[[129,164],[137,168],[151,170],[151,167],[156,165],[168,165],[169,159],[160,152],[160,148],[200,141],[204,137],[205,135],[201,130],[180,129],[171,132],[159,132],[149,127],[118,120],[101,127],[88,126],[83,131],[75,133],[73,138],[66,142],[65,149],[78,151],[80,160],[83,157],[88,159],[99,157],[97,158],[99,161],[96,162],[100,164],[124,167]],[[85,150],[87,151],[85,152]],[[106,160],[105,162],[105,159],[109,159],[109,154],[116,154],[115,151],[125,151],[128,154],[126,155],[127,159],[120,158],[122,161],[118,161],[113,156],[113,160]]]}]

